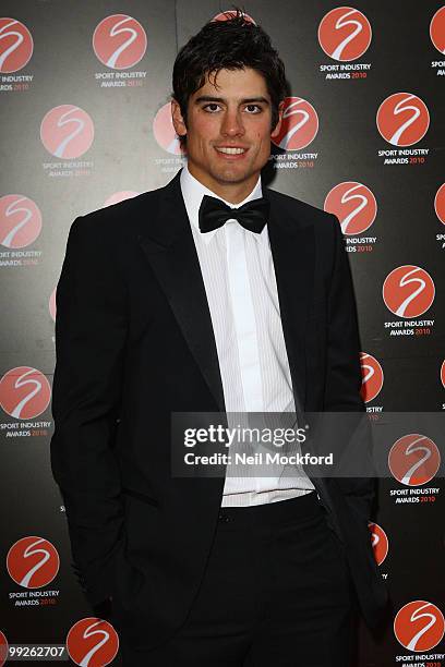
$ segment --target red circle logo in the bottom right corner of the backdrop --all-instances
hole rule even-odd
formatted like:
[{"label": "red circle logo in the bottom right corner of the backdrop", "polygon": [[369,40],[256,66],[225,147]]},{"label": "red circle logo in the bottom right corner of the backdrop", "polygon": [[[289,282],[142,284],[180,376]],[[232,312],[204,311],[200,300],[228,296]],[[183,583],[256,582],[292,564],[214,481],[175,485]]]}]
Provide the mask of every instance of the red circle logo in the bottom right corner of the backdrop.
[{"label": "red circle logo in the bottom right corner of the backdrop", "polygon": [[441,609],[424,599],[408,603],[394,619],[394,634],[408,651],[431,651],[442,641],[444,631],[445,620]]}]

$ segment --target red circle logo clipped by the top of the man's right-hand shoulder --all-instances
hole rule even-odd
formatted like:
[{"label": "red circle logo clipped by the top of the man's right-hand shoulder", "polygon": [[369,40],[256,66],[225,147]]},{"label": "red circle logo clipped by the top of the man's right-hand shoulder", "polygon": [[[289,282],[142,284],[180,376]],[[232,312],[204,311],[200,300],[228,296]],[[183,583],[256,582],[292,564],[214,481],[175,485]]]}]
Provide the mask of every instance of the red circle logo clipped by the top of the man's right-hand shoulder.
[{"label": "red circle logo clipped by the top of the man's right-hand shoulder", "polygon": [[371,227],[377,215],[377,203],[369,187],[345,181],[328,192],[324,209],[337,216],[344,234],[352,235]]}]

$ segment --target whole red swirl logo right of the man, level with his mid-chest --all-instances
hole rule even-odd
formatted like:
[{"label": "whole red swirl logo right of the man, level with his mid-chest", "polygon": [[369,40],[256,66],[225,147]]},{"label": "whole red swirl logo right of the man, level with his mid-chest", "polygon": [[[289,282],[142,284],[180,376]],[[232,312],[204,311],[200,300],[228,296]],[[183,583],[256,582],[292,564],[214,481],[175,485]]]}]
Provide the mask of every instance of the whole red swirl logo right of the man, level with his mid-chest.
[{"label": "whole red swirl logo right of the man, level with his mid-chest", "polygon": [[419,266],[395,268],[383,283],[386,307],[398,317],[419,317],[432,305],[435,295],[433,279]]}]

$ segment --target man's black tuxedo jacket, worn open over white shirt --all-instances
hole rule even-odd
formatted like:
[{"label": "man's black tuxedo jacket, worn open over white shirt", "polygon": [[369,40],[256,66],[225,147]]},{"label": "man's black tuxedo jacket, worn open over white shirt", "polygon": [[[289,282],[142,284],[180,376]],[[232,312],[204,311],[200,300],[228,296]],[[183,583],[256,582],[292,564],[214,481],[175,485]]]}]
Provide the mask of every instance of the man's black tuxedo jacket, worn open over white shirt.
[{"label": "man's black tuxedo jacket, worn open over white shirt", "polygon": [[[363,411],[351,278],[337,219],[274,191],[268,233],[297,412]],[[153,646],[185,619],[224,478],[173,477],[170,413],[225,410],[211,314],[179,174],[77,218],[57,289],[51,465],[93,604]],[[313,483],[344,542],[362,611],[386,591],[370,480]]]}]

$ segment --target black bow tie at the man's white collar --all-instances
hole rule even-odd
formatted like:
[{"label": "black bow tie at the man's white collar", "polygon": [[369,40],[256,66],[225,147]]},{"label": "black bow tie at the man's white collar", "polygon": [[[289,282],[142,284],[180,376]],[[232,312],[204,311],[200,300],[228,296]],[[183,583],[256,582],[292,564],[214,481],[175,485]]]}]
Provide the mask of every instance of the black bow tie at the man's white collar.
[{"label": "black bow tie at the man's white collar", "polygon": [[252,199],[239,208],[230,208],[220,199],[204,195],[200,206],[200,230],[205,233],[218,229],[234,218],[244,229],[258,234],[267,222],[269,207],[268,199],[264,197]]}]

